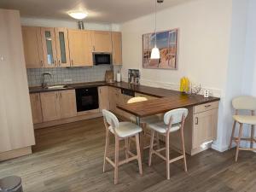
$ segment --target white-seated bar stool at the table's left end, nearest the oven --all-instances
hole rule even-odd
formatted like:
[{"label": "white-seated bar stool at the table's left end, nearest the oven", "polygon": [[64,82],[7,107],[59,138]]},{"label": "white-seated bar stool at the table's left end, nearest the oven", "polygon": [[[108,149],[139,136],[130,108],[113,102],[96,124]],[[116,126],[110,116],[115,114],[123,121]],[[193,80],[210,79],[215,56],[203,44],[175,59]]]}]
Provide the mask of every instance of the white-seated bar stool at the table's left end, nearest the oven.
[{"label": "white-seated bar stool at the table's left end, nearest the oven", "polygon": [[[137,160],[139,166],[139,172],[143,174],[142,168],[142,159],[140,152],[140,144],[139,144],[139,133],[143,131],[143,129],[131,122],[119,122],[117,117],[109,112],[106,109],[102,109],[104,125],[106,128],[106,145],[105,145],[105,153],[104,153],[104,163],[103,163],[103,172],[106,170],[106,162],[113,166],[114,168],[114,184],[118,183],[118,171],[119,166],[130,162],[131,160]],[[108,148],[109,148],[109,132],[114,135],[114,161],[108,158]],[[137,155],[131,153],[128,150],[128,138],[135,137],[136,138],[136,147],[137,147]],[[125,160],[119,161],[119,141],[125,140]],[[129,157],[131,155],[131,157]]]}]

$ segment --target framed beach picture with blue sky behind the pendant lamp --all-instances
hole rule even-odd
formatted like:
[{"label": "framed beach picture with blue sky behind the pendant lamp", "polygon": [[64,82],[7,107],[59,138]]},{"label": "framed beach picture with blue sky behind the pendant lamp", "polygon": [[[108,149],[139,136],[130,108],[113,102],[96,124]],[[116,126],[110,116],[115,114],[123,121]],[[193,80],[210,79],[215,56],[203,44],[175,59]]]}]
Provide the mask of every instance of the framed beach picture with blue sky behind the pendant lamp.
[{"label": "framed beach picture with blue sky behind the pendant lamp", "polygon": [[160,59],[151,60],[154,48],[154,33],[143,34],[143,68],[177,69],[178,29],[156,32],[156,46]]}]

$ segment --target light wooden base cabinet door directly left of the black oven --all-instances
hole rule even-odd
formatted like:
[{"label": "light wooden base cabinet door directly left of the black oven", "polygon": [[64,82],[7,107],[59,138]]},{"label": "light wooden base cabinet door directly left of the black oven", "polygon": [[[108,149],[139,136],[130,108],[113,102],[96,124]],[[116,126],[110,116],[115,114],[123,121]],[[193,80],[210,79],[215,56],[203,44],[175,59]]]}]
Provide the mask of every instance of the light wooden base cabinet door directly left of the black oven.
[{"label": "light wooden base cabinet door directly left of the black oven", "polygon": [[59,91],[61,119],[77,115],[77,104],[75,90]]}]

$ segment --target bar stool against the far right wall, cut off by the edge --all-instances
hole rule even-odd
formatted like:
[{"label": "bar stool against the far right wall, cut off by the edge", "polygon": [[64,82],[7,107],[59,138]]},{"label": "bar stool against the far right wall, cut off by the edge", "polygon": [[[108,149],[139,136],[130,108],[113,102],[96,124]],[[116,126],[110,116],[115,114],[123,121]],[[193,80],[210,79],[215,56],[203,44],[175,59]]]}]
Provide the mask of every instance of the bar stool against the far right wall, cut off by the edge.
[{"label": "bar stool against the far right wall, cut off by the edge", "polygon": [[[236,109],[235,115],[233,116],[234,124],[230,137],[230,148],[232,147],[232,142],[236,143],[236,161],[238,159],[239,150],[250,150],[255,151],[256,148],[253,148],[253,143],[256,142],[254,138],[254,125],[256,125],[256,116],[254,116],[254,111],[256,110],[256,97],[254,96],[238,96],[232,100],[233,108]],[[251,115],[239,115],[239,110],[249,110]],[[234,137],[236,123],[239,123],[239,133],[238,137]],[[241,138],[243,124],[251,125],[251,137],[250,138]],[[250,148],[241,148],[241,140],[250,142]]]}]

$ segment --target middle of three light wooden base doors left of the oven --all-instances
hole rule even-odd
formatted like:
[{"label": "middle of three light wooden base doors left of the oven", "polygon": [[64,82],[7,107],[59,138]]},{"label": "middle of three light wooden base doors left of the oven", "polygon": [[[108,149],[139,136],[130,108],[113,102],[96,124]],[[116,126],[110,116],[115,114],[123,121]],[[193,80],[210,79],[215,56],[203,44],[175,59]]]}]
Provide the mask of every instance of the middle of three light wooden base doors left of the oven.
[{"label": "middle of three light wooden base doors left of the oven", "polygon": [[58,91],[40,93],[44,122],[61,119]]}]

